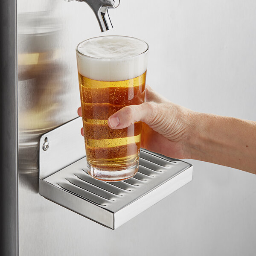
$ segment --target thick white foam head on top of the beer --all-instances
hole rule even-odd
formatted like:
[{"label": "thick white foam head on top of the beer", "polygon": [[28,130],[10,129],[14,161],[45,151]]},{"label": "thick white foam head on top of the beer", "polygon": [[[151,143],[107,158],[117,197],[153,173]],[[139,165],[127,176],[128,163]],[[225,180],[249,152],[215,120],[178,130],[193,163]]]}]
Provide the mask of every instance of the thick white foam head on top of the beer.
[{"label": "thick white foam head on top of the beer", "polygon": [[147,69],[148,45],[137,38],[102,36],[81,42],[77,66],[82,76],[99,81],[122,81]]}]

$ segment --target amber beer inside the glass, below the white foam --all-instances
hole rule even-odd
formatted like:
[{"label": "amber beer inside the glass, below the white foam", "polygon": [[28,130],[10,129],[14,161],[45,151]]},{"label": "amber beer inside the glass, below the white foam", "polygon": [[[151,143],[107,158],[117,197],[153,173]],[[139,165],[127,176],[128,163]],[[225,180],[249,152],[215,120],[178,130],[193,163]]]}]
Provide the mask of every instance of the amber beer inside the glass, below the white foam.
[{"label": "amber beer inside the glass, below the white foam", "polygon": [[97,81],[79,74],[87,162],[105,171],[128,169],[138,163],[142,122],[113,130],[108,118],[145,98],[146,72],[124,81]]}]

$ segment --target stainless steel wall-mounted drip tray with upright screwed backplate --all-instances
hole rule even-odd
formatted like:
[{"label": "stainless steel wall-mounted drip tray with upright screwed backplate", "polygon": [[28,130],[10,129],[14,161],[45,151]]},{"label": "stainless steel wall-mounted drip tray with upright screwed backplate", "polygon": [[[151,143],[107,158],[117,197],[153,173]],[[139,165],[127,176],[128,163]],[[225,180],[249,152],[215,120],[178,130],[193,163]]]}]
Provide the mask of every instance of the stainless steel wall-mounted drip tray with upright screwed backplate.
[{"label": "stainless steel wall-mounted drip tray with upright screwed backplate", "polygon": [[[40,195],[67,209],[116,229],[192,180],[191,164],[145,149],[140,151],[139,171],[134,177],[117,182],[95,180],[87,174],[85,156],[74,161],[80,150],[85,155],[80,148],[84,147],[80,127],[77,118],[43,135],[40,142]],[[62,144],[67,146],[67,134],[75,145],[65,150]],[[45,142],[49,143],[46,151]],[[72,164],[54,172],[54,167],[61,166],[56,161],[66,163],[67,158]]]}]

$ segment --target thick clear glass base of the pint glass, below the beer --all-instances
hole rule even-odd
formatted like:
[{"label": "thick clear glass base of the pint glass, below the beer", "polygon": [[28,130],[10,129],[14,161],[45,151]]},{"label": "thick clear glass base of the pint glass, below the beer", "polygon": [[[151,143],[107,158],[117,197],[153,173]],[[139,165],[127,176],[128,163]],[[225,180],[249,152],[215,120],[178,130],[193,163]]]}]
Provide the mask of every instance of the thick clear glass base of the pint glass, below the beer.
[{"label": "thick clear glass base of the pint glass, below the beer", "polygon": [[106,171],[90,165],[87,162],[87,172],[88,174],[96,180],[102,181],[120,181],[127,180],[138,172],[139,169],[139,161],[135,163],[133,166],[130,166],[128,169],[121,169],[118,171]]}]

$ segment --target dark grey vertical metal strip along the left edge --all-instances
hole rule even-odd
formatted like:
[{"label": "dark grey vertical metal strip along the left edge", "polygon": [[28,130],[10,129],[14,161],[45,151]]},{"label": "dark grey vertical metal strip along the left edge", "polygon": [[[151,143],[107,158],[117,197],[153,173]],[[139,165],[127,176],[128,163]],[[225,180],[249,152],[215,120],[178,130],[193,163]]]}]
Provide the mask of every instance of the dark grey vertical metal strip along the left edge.
[{"label": "dark grey vertical metal strip along the left edge", "polygon": [[16,0],[0,1],[0,254],[18,254]]}]

